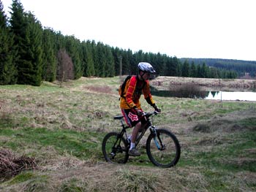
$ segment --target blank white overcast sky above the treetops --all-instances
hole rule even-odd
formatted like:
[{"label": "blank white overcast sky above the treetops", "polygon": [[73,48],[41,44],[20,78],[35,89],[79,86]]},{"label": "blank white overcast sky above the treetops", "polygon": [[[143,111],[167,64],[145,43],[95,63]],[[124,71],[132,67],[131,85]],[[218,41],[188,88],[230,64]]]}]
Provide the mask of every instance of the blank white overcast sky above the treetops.
[{"label": "blank white overcast sky above the treetops", "polygon": [[[12,0],[1,0],[10,12]],[[135,53],[256,61],[255,0],[20,0],[44,27]]]}]

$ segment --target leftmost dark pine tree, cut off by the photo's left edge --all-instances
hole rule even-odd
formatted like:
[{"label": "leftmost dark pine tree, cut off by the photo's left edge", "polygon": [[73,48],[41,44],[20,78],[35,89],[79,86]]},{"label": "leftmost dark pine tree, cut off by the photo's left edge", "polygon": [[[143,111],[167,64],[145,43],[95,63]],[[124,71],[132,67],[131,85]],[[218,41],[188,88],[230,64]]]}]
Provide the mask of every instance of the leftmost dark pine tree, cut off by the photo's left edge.
[{"label": "leftmost dark pine tree, cut off by the photo's left edge", "polygon": [[15,84],[17,81],[13,47],[13,35],[7,26],[7,17],[0,1],[0,85]]}]

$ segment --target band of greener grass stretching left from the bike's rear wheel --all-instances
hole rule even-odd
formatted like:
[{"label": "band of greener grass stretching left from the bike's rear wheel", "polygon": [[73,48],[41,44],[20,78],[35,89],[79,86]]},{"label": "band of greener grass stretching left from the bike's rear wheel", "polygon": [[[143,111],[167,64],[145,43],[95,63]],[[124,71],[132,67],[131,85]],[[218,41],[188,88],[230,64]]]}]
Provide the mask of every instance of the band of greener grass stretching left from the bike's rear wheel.
[{"label": "band of greener grass stretching left from the bike's rear wheel", "polygon": [[[0,134],[1,136],[12,138],[8,142],[0,144],[1,147],[9,147],[12,150],[25,150],[26,146],[33,145],[37,148],[52,146],[60,155],[68,153],[80,159],[89,159],[95,154],[97,154],[98,158],[102,156],[99,144],[103,134],[96,132],[52,131],[47,128],[20,128],[18,130],[1,128]],[[91,137],[99,142],[91,140]]]}]

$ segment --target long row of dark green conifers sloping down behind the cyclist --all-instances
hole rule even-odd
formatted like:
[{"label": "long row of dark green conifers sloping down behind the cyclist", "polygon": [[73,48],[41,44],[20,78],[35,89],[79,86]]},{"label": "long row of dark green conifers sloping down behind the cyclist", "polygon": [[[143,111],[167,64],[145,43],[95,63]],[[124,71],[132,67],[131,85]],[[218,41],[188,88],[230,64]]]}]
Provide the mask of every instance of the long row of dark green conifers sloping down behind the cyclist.
[{"label": "long row of dark green conifers sloping down behind the cyclist", "polygon": [[80,77],[113,77],[136,74],[137,64],[152,64],[159,75],[177,77],[236,78],[231,70],[218,69],[160,53],[123,50],[102,42],[64,36],[45,28],[20,0],[12,0],[10,18],[0,0],[0,85],[39,86],[43,80],[76,80]]}]

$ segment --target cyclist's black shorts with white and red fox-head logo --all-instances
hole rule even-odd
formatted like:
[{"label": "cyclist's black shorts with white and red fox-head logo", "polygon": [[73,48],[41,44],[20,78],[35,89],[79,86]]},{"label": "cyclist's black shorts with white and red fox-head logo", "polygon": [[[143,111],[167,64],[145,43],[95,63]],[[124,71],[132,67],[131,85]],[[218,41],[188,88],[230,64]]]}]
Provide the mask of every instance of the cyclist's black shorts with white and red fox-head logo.
[{"label": "cyclist's black shorts with white and red fox-head logo", "polygon": [[133,109],[124,110],[121,109],[124,119],[129,127],[135,126],[137,123],[145,123],[146,120],[143,117],[139,117],[137,112]]}]

